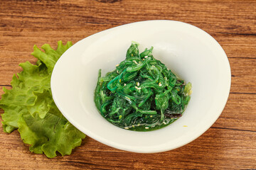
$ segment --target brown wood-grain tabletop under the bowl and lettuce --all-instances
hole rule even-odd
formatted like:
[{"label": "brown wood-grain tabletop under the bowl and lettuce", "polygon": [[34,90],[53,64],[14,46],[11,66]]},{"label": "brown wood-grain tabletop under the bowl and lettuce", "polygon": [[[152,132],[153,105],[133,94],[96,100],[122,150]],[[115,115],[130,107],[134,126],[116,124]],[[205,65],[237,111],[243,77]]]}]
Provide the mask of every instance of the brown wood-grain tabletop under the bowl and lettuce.
[{"label": "brown wood-grain tabletop under the bowl and lettuce", "polygon": [[0,128],[0,169],[256,169],[256,1],[1,0],[0,86],[11,89],[20,62],[36,62],[30,55],[35,44],[56,47],[58,40],[75,43],[107,28],[154,19],[206,30],[228,55],[230,96],[207,132],[157,154],[124,152],[86,137],[70,156],[48,159],[29,152],[17,131]]}]

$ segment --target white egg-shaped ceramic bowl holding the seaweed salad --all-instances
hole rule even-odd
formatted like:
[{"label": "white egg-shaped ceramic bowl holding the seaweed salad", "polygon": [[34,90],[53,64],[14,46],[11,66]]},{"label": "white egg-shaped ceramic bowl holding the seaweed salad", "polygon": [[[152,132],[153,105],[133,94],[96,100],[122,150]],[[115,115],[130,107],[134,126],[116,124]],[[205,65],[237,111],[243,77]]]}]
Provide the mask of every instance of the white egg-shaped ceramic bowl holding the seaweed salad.
[{"label": "white egg-shaped ceramic bowl holding the seaweed salad", "polygon": [[[98,70],[102,75],[112,71],[132,41],[139,42],[140,50],[153,46],[156,59],[192,83],[188,108],[166,128],[124,130],[95,107]],[[86,135],[117,149],[152,153],[181,147],[206,132],[225,107],[230,80],[228,58],[208,33],[178,21],[142,21],[104,30],[70,47],[55,64],[51,90],[61,113]]]}]

